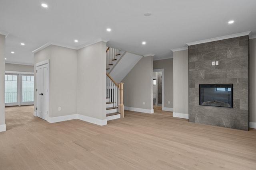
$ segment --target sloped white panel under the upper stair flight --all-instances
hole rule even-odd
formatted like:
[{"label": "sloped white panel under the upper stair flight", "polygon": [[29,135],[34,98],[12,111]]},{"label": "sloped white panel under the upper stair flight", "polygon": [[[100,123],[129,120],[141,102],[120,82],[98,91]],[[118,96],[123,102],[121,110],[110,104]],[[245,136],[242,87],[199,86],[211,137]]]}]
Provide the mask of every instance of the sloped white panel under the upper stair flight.
[{"label": "sloped white panel under the upper stair flight", "polygon": [[115,82],[121,82],[142,57],[142,55],[125,51],[108,74],[115,80]]}]

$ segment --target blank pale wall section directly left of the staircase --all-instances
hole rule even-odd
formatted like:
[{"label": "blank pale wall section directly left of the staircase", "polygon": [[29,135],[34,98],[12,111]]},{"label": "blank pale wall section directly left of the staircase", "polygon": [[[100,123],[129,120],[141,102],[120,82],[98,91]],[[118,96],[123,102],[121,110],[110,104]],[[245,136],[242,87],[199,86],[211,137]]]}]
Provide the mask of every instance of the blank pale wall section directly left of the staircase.
[{"label": "blank pale wall section directly left of the staircase", "polygon": [[106,119],[106,43],[78,50],[77,113]]}]

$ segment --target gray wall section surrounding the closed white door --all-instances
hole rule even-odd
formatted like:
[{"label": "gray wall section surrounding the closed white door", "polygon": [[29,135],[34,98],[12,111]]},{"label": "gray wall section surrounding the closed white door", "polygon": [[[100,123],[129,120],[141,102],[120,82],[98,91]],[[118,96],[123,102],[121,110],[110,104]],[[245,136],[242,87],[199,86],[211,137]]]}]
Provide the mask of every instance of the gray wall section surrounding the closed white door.
[{"label": "gray wall section surrounding the closed white door", "polygon": [[50,59],[49,116],[76,114],[77,51],[50,45],[35,53],[35,63],[46,59]]}]

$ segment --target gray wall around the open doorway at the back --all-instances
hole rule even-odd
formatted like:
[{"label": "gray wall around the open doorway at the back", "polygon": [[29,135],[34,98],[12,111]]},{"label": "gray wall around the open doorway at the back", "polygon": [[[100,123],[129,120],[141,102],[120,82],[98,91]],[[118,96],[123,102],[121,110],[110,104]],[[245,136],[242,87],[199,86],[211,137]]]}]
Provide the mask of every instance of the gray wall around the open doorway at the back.
[{"label": "gray wall around the open doorway at the back", "polygon": [[154,61],[153,69],[161,68],[164,69],[164,107],[173,108],[173,59]]}]

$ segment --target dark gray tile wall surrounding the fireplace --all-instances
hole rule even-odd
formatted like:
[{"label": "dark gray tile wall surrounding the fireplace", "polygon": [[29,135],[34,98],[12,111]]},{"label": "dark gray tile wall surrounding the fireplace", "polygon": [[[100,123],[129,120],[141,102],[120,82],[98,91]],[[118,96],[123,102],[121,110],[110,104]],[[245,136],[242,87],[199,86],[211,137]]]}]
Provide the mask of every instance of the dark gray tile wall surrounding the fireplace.
[{"label": "dark gray tile wall surrounding the fireplace", "polygon": [[[248,40],[242,36],[188,47],[190,122],[248,131]],[[233,108],[200,106],[199,84],[233,84]]]}]

